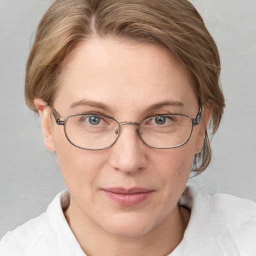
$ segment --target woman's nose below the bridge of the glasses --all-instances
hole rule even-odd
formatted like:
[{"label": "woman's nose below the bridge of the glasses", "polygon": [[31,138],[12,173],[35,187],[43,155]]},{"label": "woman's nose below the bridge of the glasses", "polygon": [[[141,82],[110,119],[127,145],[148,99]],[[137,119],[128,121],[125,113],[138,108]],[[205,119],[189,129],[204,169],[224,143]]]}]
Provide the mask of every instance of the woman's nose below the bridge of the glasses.
[{"label": "woman's nose below the bridge of the glasses", "polygon": [[110,147],[109,163],[112,168],[131,174],[146,167],[149,148],[139,137],[137,125],[130,125],[136,123],[123,124],[127,125],[121,126],[119,137]]}]

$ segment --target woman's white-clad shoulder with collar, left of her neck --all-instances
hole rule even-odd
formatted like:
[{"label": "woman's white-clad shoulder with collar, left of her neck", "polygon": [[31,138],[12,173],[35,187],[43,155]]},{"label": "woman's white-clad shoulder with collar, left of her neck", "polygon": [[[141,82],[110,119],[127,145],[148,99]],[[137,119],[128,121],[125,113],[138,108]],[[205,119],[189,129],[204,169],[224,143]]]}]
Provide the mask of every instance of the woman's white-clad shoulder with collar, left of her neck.
[{"label": "woman's white-clad shoulder with collar, left of her neck", "polygon": [[[67,191],[58,193],[44,213],[7,232],[0,240],[0,255],[67,255],[72,246],[79,250],[63,214],[66,198]],[[64,239],[70,240],[69,248]]]}]

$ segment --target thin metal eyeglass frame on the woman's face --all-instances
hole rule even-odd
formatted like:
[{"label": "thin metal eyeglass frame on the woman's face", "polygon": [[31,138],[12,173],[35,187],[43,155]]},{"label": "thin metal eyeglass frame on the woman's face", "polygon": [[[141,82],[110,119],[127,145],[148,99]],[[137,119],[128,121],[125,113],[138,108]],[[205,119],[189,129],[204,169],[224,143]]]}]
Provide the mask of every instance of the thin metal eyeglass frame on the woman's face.
[{"label": "thin metal eyeglass frame on the woman's face", "polygon": [[[114,118],[112,118],[111,116],[108,116],[108,115],[95,114],[95,113],[76,113],[76,114],[67,115],[67,116],[64,118],[64,120],[60,120],[61,115],[54,109],[54,107],[51,106],[50,104],[47,104],[46,106],[49,106],[49,107],[50,107],[50,109],[51,109],[51,111],[52,111],[52,114],[53,114],[53,116],[54,116],[54,118],[55,118],[56,124],[58,124],[58,125],[63,125],[64,133],[65,133],[65,136],[66,136],[67,140],[68,140],[73,146],[76,146],[76,147],[81,148],[81,149],[86,149],[86,150],[102,150],[102,149],[106,149],[106,148],[109,148],[110,146],[112,146],[112,145],[115,143],[115,141],[117,140],[117,138],[119,137],[120,133],[121,133],[121,126],[122,126],[122,125],[125,125],[125,124],[136,125],[136,126],[137,126],[137,131],[139,131],[140,123],[141,123],[143,120],[145,120],[145,119],[147,119],[147,118],[150,118],[150,117],[165,116],[165,115],[182,115],[182,116],[188,117],[188,118],[191,120],[191,123],[192,123],[191,132],[190,132],[188,138],[187,138],[183,143],[181,143],[181,144],[179,144],[179,145],[176,145],[176,146],[170,146],[170,147],[154,147],[154,146],[151,146],[151,145],[147,144],[147,143],[143,140],[143,138],[140,136],[139,132],[138,132],[138,135],[139,135],[139,137],[142,139],[142,141],[143,141],[146,145],[148,145],[149,147],[152,147],[152,148],[168,149],[168,148],[179,147],[179,146],[182,146],[183,144],[185,144],[185,143],[189,140],[189,138],[190,138],[190,136],[191,136],[191,134],[192,134],[192,131],[193,131],[193,126],[198,125],[198,124],[200,123],[200,117],[201,117],[201,112],[202,112],[202,107],[201,107],[201,105],[200,105],[199,111],[198,111],[198,113],[196,114],[195,118],[192,118],[192,117],[190,117],[189,115],[186,115],[186,114],[170,113],[170,114],[156,114],[156,115],[148,116],[148,117],[144,118],[143,120],[141,120],[140,122],[118,122],[117,120],[115,120]],[[45,107],[46,107],[46,106],[45,106]],[[70,141],[70,139],[69,139],[68,136],[66,135],[66,131],[65,131],[65,122],[66,122],[67,118],[70,117],[70,116],[73,116],[73,115],[84,115],[84,114],[92,114],[92,115],[97,115],[97,116],[104,116],[104,117],[110,118],[110,119],[112,119],[112,120],[114,120],[114,121],[116,121],[116,122],[118,123],[118,129],[115,131],[115,133],[117,134],[117,137],[115,138],[115,140],[113,141],[112,144],[110,144],[110,145],[108,145],[108,146],[106,146],[106,147],[102,147],[102,148],[87,148],[87,147],[78,146],[78,145],[74,144],[72,141]]]}]

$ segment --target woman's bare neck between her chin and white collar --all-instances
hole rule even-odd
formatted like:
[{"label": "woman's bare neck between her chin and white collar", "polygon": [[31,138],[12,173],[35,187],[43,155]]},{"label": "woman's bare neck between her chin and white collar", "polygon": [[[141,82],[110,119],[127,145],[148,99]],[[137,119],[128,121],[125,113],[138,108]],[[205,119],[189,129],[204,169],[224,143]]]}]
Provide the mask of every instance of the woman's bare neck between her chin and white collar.
[{"label": "woman's bare neck between her chin and white collar", "polygon": [[[119,236],[106,232],[90,219],[77,217],[68,207],[65,216],[87,256],[167,255],[180,243],[190,212],[176,206],[171,214],[149,232],[138,236]],[[82,221],[80,221],[82,219]]]}]

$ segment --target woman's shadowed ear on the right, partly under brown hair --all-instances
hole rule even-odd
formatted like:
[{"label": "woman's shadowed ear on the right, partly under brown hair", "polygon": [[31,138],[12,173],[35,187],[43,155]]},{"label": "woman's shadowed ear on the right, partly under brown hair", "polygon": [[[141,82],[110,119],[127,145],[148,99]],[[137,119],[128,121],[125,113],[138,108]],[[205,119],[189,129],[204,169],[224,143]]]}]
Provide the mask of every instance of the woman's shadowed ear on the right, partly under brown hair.
[{"label": "woman's shadowed ear on the right, partly under brown hair", "polygon": [[200,120],[200,124],[199,124],[199,134],[198,134],[198,138],[197,138],[197,142],[196,142],[196,146],[195,146],[195,154],[200,152],[202,149],[203,140],[204,140],[204,136],[205,136],[205,130],[207,128],[207,124],[208,124],[210,115],[211,115],[211,109],[209,108],[209,106],[203,105],[202,113],[201,113],[201,120]]}]

